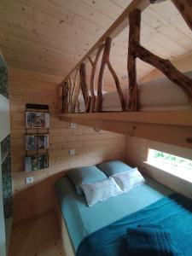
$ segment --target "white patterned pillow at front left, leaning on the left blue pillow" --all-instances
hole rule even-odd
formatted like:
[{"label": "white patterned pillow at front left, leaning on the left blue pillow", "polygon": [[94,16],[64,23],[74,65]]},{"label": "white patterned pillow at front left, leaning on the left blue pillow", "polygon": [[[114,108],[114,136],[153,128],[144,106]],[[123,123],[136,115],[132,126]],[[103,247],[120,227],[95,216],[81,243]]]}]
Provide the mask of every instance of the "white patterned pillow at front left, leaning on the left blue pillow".
[{"label": "white patterned pillow at front left, leaning on the left blue pillow", "polygon": [[123,191],[119,188],[119,185],[115,183],[113,177],[108,177],[96,183],[81,184],[80,186],[84,190],[84,195],[89,207],[99,201],[106,201],[108,198],[123,194]]}]

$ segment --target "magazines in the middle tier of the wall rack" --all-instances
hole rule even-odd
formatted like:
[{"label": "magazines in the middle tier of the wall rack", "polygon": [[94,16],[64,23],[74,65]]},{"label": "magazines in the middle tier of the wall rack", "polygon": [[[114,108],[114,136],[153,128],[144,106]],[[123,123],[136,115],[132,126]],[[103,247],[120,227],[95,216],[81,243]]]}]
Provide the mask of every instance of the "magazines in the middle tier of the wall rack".
[{"label": "magazines in the middle tier of the wall rack", "polygon": [[26,150],[49,148],[49,135],[26,135]]}]

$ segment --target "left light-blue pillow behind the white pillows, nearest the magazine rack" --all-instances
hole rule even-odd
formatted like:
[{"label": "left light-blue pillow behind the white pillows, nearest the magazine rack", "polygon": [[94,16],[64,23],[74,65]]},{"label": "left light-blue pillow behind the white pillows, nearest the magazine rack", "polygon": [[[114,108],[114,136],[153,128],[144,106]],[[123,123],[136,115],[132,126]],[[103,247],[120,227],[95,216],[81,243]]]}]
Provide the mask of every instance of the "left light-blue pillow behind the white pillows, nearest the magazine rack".
[{"label": "left light-blue pillow behind the white pillows, nearest the magazine rack", "polygon": [[80,184],[96,183],[107,178],[107,176],[96,166],[80,167],[70,170],[67,172],[67,177],[74,183],[79,195],[84,195]]}]

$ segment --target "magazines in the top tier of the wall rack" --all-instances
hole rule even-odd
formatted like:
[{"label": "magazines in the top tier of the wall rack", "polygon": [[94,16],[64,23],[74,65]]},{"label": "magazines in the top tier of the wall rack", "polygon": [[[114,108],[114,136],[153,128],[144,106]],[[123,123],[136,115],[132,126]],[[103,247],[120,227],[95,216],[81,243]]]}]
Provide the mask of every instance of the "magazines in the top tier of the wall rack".
[{"label": "magazines in the top tier of the wall rack", "polygon": [[26,112],[26,128],[49,128],[49,113]]}]

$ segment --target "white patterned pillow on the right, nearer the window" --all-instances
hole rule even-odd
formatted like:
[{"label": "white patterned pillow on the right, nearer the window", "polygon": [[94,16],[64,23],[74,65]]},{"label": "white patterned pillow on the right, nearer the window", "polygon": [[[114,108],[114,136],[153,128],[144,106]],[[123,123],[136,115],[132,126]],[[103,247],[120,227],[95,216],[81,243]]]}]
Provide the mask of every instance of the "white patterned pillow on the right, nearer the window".
[{"label": "white patterned pillow on the right, nearer the window", "polygon": [[120,189],[126,193],[140,184],[145,183],[145,179],[137,168],[132,168],[127,172],[120,172],[112,175],[116,183],[118,183]]}]

